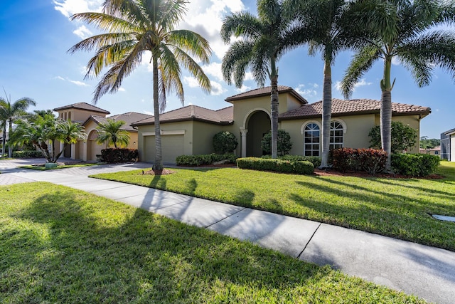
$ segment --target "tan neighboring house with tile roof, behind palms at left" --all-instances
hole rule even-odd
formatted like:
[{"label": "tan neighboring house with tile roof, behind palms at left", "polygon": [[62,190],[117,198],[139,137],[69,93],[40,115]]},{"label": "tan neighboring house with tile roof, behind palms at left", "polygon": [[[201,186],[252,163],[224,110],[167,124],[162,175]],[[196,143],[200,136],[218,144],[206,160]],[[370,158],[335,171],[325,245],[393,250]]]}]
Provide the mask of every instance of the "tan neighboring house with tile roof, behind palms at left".
[{"label": "tan neighboring house with tile roof, behind palms at left", "polygon": [[[85,162],[97,160],[97,155],[101,154],[101,150],[107,148],[106,144],[99,145],[96,142],[98,135],[96,127],[100,122],[105,122],[108,119],[124,121],[125,124],[122,126],[122,129],[129,132],[129,145],[127,148],[137,149],[137,130],[135,130],[131,124],[132,122],[151,117],[151,115],[138,112],[127,112],[120,115],[107,116],[110,114],[109,111],[88,103],[74,103],[53,110],[58,112],[58,117],[60,119],[79,122],[85,128],[87,140],[79,140],[76,144],[67,145],[66,150],[63,152],[64,157],[82,159]],[[54,149],[55,152],[60,152],[63,149],[63,143],[54,145]]]}]

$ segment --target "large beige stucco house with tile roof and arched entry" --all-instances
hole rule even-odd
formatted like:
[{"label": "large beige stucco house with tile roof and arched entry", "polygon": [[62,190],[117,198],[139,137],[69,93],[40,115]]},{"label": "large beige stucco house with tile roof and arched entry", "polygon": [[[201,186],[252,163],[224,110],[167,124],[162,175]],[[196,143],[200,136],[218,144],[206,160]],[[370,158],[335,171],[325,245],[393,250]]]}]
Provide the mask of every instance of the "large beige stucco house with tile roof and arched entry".
[{"label": "large beige stucco house with tile roof and arched entry", "polygon": [[[270,127],[270,87],[250,90],[226,98],[231,107],[208,110],[196,105],[165,112],[160,115],[163,162],[175,163],[181,154],[213,152],[212,139],[217,132],[234,133],[239,141],[235,153],[240,157],[262,155],[262,136]],[[420,120],[429,115],[430,108],[392,103],[392,120],[417,130]],[[321,155],[322,103],[309,104],[291,87],[279,86],[279,129],[291,135],[289,154]],[[154,161],[154,118],[134,122],[138,128],[139,159]],[[380,125],[379,100],[332,101],[331,147],[369,147],[368,132]],[[419,152],[417,146],[410,152]]]}]

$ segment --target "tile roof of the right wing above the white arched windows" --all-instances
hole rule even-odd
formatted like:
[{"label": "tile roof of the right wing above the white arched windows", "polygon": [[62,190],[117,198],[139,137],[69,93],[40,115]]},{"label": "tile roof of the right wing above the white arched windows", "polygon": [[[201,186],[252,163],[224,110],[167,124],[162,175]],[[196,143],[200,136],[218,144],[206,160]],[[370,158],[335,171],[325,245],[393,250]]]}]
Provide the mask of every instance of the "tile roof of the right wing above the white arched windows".
[{"label": "tile roof of the right wing above the white arched windows", "polygon": [[[333,98],[332,100],[332,116],[341,115],[360,115],[379,113],[381,108],[380,100],[373,99],[353,99],[341,100]],[[427,116],[432,110],[428,107],[419,105],[408,105],[405,103],[392,103],[392,115],[424,115]],[[322,101],[311,103],[309,105],[301,105],[300,108],[284,112],[279,115],[280,120],[293,120],[306,117],[321,117]]]}]

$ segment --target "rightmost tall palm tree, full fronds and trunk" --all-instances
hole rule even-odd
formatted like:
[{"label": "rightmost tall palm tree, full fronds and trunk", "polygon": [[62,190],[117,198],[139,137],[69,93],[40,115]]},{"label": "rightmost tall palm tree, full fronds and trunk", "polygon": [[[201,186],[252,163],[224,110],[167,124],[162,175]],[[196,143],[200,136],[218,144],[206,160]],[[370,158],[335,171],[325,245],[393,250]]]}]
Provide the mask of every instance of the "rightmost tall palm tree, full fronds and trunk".
[{"label": "rightmost tall palm tree, full fronds and trunk", "polygon": [[[448,70],[455,77],[455,33],[440,26],[455,22],[453,1],[439,0],[363,0],[368,11],[353,16],[355,28],[365,30],[358,50],[342,81],[343,93],[350,97],[355,83],[373,64],[382,60],[380,81],[380,129],[382,149],[389,154],[386,170],[390,171],[392,122],[392,59],[397,58],[410,70],[417,85],[428,85],[434,67]],[[373,9],[373,10],[372,10]],[[372,13],[373,14],[370,14]],[[439,26],[439,28],[438,28]]]}]

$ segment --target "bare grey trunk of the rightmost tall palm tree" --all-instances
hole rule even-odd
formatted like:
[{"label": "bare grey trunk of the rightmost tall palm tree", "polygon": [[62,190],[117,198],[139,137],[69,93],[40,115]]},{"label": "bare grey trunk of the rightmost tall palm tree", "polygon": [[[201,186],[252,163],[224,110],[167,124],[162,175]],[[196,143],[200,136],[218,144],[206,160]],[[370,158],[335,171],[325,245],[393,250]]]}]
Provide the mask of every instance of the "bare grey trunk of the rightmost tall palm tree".
[{"label": "bare grey trunk of the rightmost tall palm tree", "polygon": [[392,57],[387,56],[384,61],[384,78],[381,81],[381,147],[387,152],[385,171],[392,172],[390,154],[392,152],[392,88],[390,81],[390,69],[392,68]]}]

